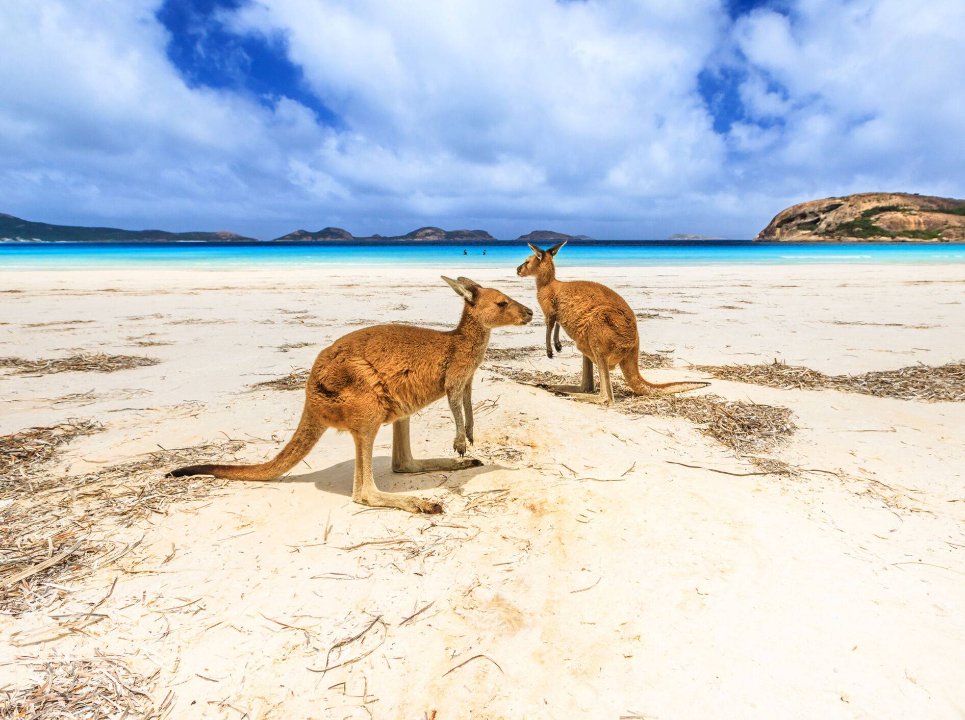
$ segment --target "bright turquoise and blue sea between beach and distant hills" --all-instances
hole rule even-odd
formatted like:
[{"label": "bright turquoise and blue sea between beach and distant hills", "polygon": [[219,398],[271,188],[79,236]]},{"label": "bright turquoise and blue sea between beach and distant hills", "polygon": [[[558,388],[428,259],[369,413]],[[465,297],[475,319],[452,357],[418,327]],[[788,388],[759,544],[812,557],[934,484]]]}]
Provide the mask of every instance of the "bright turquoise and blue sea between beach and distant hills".
[{"label": "bright turquoise and blue sea between beach and distant hills", "polygon": [[[870,242],[769,243],[750,240],[579,240],[569,242],[563,252],[565,264],[570,266],[965,263],[963,243],[939,245]],[[0,269],[246,269],[279,265],[470,265],[502,268],[518,265],[529,254],[530,250],[525,243],[514,240],[484,244],[413,241],[0,243]]]}]

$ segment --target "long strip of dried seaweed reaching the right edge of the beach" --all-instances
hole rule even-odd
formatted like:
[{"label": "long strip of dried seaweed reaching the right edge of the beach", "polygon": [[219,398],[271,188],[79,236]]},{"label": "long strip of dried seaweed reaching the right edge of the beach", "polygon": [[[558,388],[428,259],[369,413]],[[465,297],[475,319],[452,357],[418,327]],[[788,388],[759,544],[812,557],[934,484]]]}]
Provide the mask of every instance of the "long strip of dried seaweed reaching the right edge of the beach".
[{"label": "long strip of dried seaweed reaching the right edge of the beach", "polygon": [[697,365],[694,370],[724,380],[782,389],[840,390],[876,398],[928,402],[965,402],[965,364],[912,365],[859,375],[826,375],[775,360],[761,365]]}]

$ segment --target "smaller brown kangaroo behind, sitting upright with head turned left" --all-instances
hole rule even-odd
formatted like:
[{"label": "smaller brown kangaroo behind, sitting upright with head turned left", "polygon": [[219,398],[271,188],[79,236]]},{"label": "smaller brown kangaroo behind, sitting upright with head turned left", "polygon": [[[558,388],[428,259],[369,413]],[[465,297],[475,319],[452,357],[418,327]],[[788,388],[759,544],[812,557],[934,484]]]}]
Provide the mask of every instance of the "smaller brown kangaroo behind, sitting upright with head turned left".
[{"label": "smaller brown kangaroo behind, sitting upright with head turned left", "polygon": [[[529,243],[527,243],[529,244]],[[566,241],[549,250],[530,244],[533,255],[516,268],[520,277],[537,281],[537,299],[546,317],[546,355],[553,346],[562,350],[560,327],[583,353],[583,381],[580,385],[553,385],[550,389],[586,402],[613,402],[610,371],[620,365],[623,379],[637,395],[670,395],[706,387],[709,382],[653,383],[640,374],[640,335],[637,317],[626,300],[605,285],[584,280],[556,279],[553,258]],[[555,331],[555,336],[553,333]],[[551,340],[552,338],[552,340]],[[593,393],[593,364],[600,374],[599,394]]]}]

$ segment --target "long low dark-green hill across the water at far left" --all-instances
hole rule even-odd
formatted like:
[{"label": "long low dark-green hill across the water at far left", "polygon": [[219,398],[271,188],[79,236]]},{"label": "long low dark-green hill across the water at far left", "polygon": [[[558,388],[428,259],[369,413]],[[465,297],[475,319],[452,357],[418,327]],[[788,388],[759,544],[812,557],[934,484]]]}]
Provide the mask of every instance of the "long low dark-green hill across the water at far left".
[{"label": "long low dark-green hill across the water at far left", "polygon": [[164,230],[120,230],[50,225],[22,220],[0,212],[0,240],[29,242],[257,242],[254,237],[226,231],[216,233],[168,233]]}]

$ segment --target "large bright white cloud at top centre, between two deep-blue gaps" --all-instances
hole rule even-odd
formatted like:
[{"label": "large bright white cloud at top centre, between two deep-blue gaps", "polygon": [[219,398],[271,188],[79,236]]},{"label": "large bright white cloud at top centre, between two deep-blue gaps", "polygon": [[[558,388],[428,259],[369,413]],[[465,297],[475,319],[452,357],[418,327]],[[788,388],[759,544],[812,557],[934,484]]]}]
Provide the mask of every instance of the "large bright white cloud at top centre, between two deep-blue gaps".
[{"label": "large bright white cloud at top centre, between two deep-blue gaps", "polygon": [[636,158],[646,173],[634,165],[624,185],[647,193],[691,174],[664,155],[684,159],[693,140],[719,152],[695,86],[719,20],[716,2],[646,11],[551,0],[263,0],[231,17],[238,32],[287,39],[357,151],[392,149],[406,165],[414,154],[443,175],[454,164],[490,178],[532,166],[528,176],[572,194],[599,191]]}]

